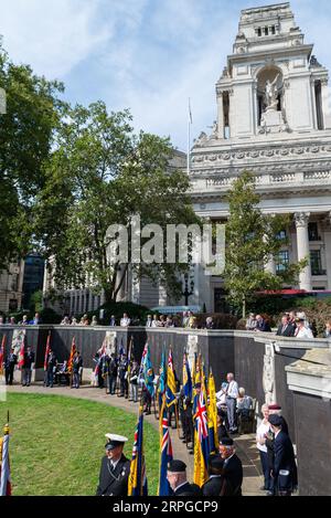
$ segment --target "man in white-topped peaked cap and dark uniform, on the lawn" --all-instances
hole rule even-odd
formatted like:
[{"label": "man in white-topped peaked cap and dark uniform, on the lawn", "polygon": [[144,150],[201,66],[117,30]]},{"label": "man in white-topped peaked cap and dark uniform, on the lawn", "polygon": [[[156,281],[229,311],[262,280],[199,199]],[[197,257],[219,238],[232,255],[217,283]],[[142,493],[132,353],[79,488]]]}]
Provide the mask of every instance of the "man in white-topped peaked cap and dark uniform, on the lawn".
[{"label": "man in white-topped peaked cap and dark uniform, on the lawn", "polygon": [[130,461],[122,450],[127,437],[116,434],[106,434],[106,455],[102,461],[99,484],[96,496],[127,496]]}]

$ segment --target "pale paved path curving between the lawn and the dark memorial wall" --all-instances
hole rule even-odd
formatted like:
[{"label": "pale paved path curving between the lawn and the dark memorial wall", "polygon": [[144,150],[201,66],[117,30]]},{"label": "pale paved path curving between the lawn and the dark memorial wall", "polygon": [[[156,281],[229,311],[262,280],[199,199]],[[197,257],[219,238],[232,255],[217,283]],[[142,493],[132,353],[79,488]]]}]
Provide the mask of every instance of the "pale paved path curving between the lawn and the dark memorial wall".
[{"label": "pale paved path curving between the lawn and the dark memorial wall", "polygon": [[[118,398],[116,395],[106,394],[105,390],[93,388],[90,385],[82,385],[81,389],[70,389],[67,387],[54,387],[53,389],[46,389],[42,384],[33,384],[31,387],[21,387],[14,384],[8,387],[9,392],[17,393],[40,393],[40,394],[57,394],[66,395],[70,398],[86,399],[98,403],[109,404],[131,412],[138,415],[137,403],[129,402],[125,398]],[[146,415],[146,421],[152,426],[159,430],[159,421],[156,420],[154,415]],[[190,455],[185,444],[179,438],[177,430],[171,430],[172,448],[174,456],[184,461],[188,465],[188,477],[190,480],[193,479],[193,455]],[[243,494],[246,496],[263,496],[264,491],[259,490],[263,485],[263,477],[259,466],[259,456],[255,446],[255,435],[241,435],[234,437],[237,454],[242,459],[244,468],[244,483]]]}]

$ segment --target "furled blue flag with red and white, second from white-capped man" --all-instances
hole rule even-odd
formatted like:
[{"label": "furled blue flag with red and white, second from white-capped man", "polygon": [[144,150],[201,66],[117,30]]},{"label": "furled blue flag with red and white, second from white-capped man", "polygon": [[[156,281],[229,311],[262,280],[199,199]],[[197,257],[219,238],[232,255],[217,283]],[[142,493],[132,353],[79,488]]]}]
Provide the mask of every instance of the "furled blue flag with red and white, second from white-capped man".
[{"label": "furled blue flag with red and white, second from white-capped man", "polygon": [[172,494],[167,478],[168,463],[172,461],[172,445],[168,426],[168,410],[166,395],[163,395],[162,410],[160,412],[160,478],[159,496],[170,496]]}]

